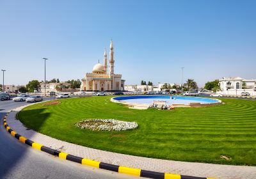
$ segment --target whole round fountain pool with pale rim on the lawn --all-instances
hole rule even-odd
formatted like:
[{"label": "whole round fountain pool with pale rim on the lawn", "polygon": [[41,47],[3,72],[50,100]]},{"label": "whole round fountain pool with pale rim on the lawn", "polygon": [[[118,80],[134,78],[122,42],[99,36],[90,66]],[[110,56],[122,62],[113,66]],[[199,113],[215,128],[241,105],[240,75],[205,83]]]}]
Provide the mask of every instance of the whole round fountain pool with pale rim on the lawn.
[{"label": "whole round fountain pool with pale rim on the lawn", "polygon": [[177,107],[200,107],[207,105],[220,104],[221,100],[213,98],[200,97],[182,97],[182,96],[163,96],[163,95],[147,95],[147,96],[124,96],[113,97],[112,102],[119,102],[129,105],[150,105],[155,101],[165,102],[168,105]]}]

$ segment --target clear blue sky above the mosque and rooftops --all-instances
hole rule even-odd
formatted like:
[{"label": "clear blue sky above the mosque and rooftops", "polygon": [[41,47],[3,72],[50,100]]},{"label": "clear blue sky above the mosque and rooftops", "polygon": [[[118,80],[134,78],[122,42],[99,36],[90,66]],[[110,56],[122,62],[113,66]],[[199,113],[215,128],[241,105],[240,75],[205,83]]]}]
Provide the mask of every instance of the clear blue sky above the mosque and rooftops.
[{"label": "clear blue sky above the mosque and rooftops", "polygon": [[[115,73],[199,86],[256,78],[256,1],[0,0],[0,68],[5,84],[81,79],[113,39]],[[0,74],[0,82],[3,82]]]}]

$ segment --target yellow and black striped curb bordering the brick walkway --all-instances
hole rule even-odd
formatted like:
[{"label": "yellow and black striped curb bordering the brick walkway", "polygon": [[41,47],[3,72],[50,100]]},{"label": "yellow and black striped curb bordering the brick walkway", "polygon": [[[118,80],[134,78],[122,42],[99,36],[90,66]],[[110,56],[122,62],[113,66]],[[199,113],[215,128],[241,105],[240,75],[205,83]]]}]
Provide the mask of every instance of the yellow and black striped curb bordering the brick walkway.
[{"label": "yellow and black striped curb bordering the brick walkway", "polygon": [[3,125],[4,128],[16,139],[18,139],[20,142],[28,144],[29,146],[36,148],[37,150],[41,150],[43,152],[49,153],[51,155],[54,155],[56,157],[60,157],[61,159],[65,160],[70,160],[72,162],[77,162],[79,164],[83,164],[86,166],[92,166],[92,167],[97,167],[100,169],[107,169],[110,171],[116,171],[118,173],[125,173],[129,175],[135,175],[135,176],[143,176],[147,178],[159,178],[159,179],[213,179],[213,178],[205,178],[205,177],[197,177],[197,176],[187,176],[187,175],[177,175],[177,174],[172,174],[172,173],[161,173],[161,172],[156,172],[156,171],[148,171],[148,170],[143,170],[143,169],[136,169],[136,168],[131,168],[131,167],[125,167],[125,166],[117,166],[113,164],[107,164],[104,162],[99,162],[96,160],[90,160],[90,159],[83,159],[81,157],[77,157],[74,155],[70,155],[65,152],[60,152],[58,150],[54,150],[52,148],[49,148],[47,146],[43,146],[42,144],[35,143],[34,141],[31,141],[29,139],[26,139],[24,136],[20,136],[12,130],[7,125],[6,118],[9,113],[4,116],[4,121]]}]

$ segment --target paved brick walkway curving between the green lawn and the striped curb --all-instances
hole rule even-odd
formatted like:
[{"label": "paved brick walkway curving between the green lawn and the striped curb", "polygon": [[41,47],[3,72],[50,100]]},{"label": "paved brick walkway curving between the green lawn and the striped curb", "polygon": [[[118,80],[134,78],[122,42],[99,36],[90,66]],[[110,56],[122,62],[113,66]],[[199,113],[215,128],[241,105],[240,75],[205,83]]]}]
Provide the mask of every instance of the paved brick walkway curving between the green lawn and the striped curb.
[{"label": "paved brick walkway curving between the green lawn and the striped curb", "polygon": [[60,150],[61,152],[66,152],[79,157],[98,160],[100,162],[106,162],[109,164],[135,167],[150,171],[211,178],[256,178],[256,167],[251,166],[228,166],[220,164],[150,159],[146,157],[124,155],[121,153],[106,152],[60,141],[58,139],[35,132],[34,130],[27,130],[27,128],[24,127],[19,120],[15,120],[15,115],[20,111],[20,109],[22,109],[22,107],[15,109],[8,115],[8,125],[17,133],[30,139],[31,141]]}]

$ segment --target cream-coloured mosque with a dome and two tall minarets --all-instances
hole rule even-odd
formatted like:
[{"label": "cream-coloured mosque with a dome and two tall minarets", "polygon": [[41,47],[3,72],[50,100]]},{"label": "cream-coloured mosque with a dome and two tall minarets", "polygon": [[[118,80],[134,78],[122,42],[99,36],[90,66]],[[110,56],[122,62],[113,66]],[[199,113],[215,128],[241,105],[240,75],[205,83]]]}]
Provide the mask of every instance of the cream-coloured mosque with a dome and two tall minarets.
[{"label": "cream-coloured mosque with a dome and two tall minarets", "polygon": [[124,80],[121,74],[114,74],[115,60],[113,42],[110,42],[109,68],[106,50],[104,51],[104,65],[97,63],[92,73],[86,73],[82,79],[81,91],[123,91]]}]

